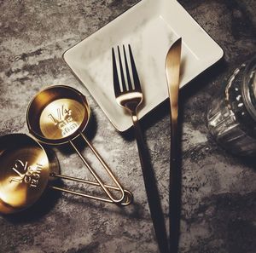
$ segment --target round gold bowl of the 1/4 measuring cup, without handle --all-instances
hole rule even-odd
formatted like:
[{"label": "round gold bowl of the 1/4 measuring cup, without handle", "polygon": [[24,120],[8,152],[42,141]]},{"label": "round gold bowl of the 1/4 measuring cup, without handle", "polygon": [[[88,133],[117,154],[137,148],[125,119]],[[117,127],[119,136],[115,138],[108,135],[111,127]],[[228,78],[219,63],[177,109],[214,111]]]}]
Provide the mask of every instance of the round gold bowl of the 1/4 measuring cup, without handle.
[{"label": "round gold bowl of the 1/4 measuring cup, without handle", "polygon": [[30,102],[26,123],[38,141],[50,145],[67,143],[79,136],[90,118],[90,107],[77,89],[50,86]]}]

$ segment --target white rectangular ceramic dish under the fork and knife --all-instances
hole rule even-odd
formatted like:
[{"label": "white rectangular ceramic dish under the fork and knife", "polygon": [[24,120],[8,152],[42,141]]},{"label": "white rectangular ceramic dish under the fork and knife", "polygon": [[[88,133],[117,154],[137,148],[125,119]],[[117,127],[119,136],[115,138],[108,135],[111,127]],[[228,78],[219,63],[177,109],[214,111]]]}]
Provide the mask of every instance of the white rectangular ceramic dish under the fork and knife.
[{"label": "white rectangular ceramic dish under the fork and knife", "polygon": [[131,44],[144,94],[139,110],[142,118],[168,97],[166,53],[178,37],[183,38],[183,87],[219,60],[223,50],[175,0],[142,0],[68,49],[63,58],[114,127],[125,131],[132,123],[129,113],[114,98],[112,47]]}]

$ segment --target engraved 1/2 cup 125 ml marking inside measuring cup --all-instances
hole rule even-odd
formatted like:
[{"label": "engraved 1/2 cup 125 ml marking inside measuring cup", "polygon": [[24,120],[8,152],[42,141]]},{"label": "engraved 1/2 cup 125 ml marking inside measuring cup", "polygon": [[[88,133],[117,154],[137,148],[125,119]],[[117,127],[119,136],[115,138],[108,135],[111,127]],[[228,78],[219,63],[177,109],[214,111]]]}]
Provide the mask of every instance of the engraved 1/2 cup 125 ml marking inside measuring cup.
[{"label": "engraved 1/2 cup 125 ml marking inside measuring cup", "polygon": [[27,166],[27,162],[23,163],[21,160],[15,160],[15,165],[11,168],[15,171],[18,177],[11,178],[10,182],[26,183],[29,187],[38,187],[40,173],[43,169],[42,164],[33,164]]}]

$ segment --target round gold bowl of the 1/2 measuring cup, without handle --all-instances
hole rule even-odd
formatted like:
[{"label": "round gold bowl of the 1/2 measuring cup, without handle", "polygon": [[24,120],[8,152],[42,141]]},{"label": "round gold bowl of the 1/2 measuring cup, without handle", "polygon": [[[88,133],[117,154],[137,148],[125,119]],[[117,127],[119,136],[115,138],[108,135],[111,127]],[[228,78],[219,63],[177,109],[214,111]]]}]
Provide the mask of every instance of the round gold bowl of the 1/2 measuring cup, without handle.
[{"label": "round gold bowl of the 1/2 measuring cup, without handle", "polygon": [[43,194],[50,163],[38,141],[25,134],[0,137],[0,212],[25,210]]}]

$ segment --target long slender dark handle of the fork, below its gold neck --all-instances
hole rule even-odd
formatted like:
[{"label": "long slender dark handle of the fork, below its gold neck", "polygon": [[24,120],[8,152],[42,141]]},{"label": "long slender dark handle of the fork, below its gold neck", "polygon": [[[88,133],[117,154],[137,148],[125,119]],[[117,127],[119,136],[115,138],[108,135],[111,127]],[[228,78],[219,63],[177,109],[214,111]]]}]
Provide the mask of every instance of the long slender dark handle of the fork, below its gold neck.
[{"label": "long slender dark handle of the fork, below its gold neck", "polygon": [[154,225],[154,233],[159,245],[160,253],[167,253],[168,240],[166,234],[166,224],[160,205],[160,196],[155,181],[154,170],[150,163],[148,149],[146,148],[145,141],[143,140],[143,134],[138,122],[137,114],[131,113],[131,117],[137,140],[139,158],[143,170],[143,179],[148,197],[148,206]]}]

